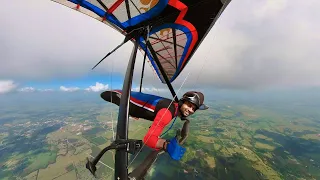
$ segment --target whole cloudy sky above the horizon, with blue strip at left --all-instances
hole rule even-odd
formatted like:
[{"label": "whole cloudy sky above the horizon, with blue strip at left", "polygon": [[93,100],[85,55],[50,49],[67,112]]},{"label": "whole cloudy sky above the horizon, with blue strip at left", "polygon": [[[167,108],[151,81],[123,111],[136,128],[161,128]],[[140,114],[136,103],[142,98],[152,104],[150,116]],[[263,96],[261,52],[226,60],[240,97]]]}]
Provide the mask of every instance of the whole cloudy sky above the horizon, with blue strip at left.
[{"label": "whole cloudy sky above the horizon, with blue strip at left", "polygon": [[[184,71],[175,89],[264,91],[320,86],[320,1],[233,0]],[[96,69],[123,36],[52,1],[0,6],[0,94],[122,88],[133,44]],[[140,82],[138,53],[133,89]],[[150,64],[144,92],[168,91]]]}]

